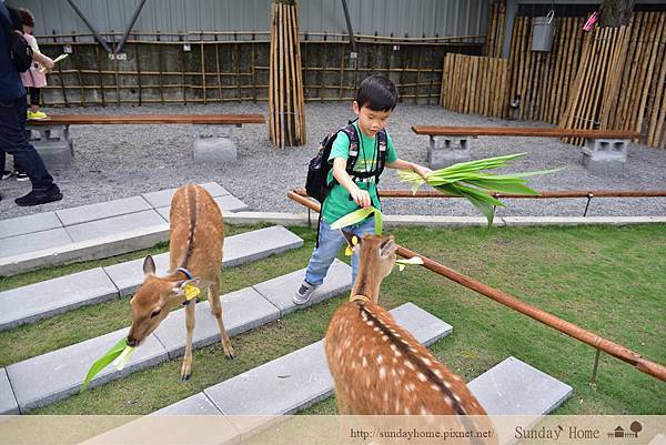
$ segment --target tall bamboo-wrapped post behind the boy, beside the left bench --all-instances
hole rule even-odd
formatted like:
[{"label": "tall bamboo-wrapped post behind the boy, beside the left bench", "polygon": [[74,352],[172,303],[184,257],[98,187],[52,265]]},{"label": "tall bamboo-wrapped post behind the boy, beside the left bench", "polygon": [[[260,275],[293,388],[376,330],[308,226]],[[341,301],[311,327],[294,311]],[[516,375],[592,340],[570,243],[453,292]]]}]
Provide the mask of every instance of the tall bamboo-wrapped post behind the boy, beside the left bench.
[{"label": "tall bamboo-wrapped post behind the boy, beside the left bench", "polygon": [[297,16],[295,4],[272,4],[269,133],[273,145],[280,148],[305,144]]}]

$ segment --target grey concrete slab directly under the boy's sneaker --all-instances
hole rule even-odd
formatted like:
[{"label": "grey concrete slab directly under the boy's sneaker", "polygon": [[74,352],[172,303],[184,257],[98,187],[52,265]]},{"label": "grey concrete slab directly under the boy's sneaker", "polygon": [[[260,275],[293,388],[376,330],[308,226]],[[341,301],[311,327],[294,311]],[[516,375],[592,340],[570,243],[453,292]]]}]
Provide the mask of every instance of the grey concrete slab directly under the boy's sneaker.
[{"label": "grey concrete slab directly under the boy's sneaker", "polygon": [[331,264],[331,269],[329,269],[329,275],[324,280],[324,283],[314,291],[307,304],[296,306],[292,302],[292,296],[304,277],[305,270],[301,269],[300,271],[255,284],[252,287],[280,309],[281,315],[289,314],[299,307],[310,306],[323,300],[329,300],[335,295],[349,293],[352,289],[352,267],[335,259],[333,264]]}]

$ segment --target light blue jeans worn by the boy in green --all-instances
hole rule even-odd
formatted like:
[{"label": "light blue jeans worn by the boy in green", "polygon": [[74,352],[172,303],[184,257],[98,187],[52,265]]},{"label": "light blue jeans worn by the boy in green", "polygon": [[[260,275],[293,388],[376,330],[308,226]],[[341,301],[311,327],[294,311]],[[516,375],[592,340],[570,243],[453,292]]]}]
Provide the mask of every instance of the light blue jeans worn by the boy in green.
[{"label": "light blue jeans worn by the boy in green", "polygon": [[[362,237],[364,233],[374,234],[374,218],[345,227],[345,232],[351,232],[356,236]],[[305,281],[310,284],[319,286],[324,282],[324,277],[329,272],[329,267],[333,260],[337,256],[340,247],[346,244],[346,241],[340,230],[331,229],[331,224],[321,220],[319,233],[319,247],[312,252],[307,271],[305,271]],[[352,255],[352,285],[356,282],[356,273],[359,272],[359,257]]]}]

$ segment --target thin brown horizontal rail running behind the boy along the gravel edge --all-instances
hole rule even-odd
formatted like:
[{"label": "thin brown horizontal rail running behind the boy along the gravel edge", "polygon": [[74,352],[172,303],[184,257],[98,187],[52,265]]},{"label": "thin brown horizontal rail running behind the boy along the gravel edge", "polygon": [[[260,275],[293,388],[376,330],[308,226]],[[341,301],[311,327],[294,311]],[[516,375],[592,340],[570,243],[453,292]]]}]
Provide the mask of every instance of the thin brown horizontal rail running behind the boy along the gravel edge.
[{"label": "thin brown horizontal rail running behind the boy along the gravel edge", "polygon": [[[301,196],[307,196],[305,189],[295,189],[294,192]],[[553,198],[666,198],[666,190],[591,190],[591,191],[554,191],[533,194],[488,193],[494,198],[505,199],[553,199]],[[462,198],[444,194],[436,191],[421,191],[413,194],[410,190],[384,190],[380,191],[381,198]]]}]

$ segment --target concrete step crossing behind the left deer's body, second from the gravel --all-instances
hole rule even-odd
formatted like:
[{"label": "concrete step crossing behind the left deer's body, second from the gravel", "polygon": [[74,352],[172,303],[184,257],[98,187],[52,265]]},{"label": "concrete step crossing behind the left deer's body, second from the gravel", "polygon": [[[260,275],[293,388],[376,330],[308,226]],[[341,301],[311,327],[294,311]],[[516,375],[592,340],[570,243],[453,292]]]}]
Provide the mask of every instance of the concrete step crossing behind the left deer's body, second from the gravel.
[{"label": "concrete step crossing behind the left deer's body, second from the gravel", "polygon": [[[241,233],[224,240],[223,266],[249,263],[302,245],[303,240],[280,225]],[[154,260],[158,274],[167,274],[169,253],[155,255]],[[133,260],[0,292],[0,331],[129,295],[143,282],[142,264],[143,259]]]}]

